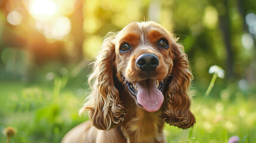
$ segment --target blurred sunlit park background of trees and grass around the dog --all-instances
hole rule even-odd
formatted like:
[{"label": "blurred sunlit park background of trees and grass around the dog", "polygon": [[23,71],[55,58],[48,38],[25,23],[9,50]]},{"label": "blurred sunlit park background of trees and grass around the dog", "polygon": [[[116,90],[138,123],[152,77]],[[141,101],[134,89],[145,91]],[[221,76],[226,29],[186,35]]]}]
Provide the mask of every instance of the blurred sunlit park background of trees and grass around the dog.
[{"label": "blurred sunlit park background of trees and grass around the dog", "polygon": [[[60,142],[88,120],[88,63],[108,32],[147,20],[179,38],[195,76],[196,124],[166,125],[167,141],[256,142],[255,0],[1,0],[0,142]],[[213,65],[224,78],[205,94]]]}]

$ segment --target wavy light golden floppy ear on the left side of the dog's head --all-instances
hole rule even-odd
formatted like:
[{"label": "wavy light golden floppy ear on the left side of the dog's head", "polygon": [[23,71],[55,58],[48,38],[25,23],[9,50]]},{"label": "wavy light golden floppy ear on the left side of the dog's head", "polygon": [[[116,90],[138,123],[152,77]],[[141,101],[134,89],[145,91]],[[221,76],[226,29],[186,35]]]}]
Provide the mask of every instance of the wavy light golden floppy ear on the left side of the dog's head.
[{"label": "wavy light golden floppy ear on the left side of the dog's head", "polygon": [[97,129],[109,130],[118,126],[125,117],[125,108],[119,99],[119,92],[113,82],[115,75],[115,44],[110,36],[104,39],[101,51],[98,53],[94,63],[94,69],[89,77],[91,95],[87,98],[80,114],[89,111],[92,125]]}]

